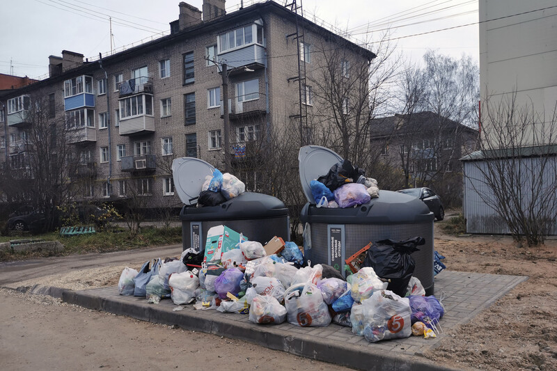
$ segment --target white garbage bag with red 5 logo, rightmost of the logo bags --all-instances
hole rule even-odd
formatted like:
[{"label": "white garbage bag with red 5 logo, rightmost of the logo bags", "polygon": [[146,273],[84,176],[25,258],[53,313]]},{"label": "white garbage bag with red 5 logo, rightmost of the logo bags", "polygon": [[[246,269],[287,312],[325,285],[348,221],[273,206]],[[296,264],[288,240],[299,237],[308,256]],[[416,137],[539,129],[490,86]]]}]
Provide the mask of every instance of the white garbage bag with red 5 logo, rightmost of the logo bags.
[{"label": "white garbage bag with red 5 logo, rightmost of the logo bags", "polygon": [[379,290],[363,301],[363,336],[370,342],[408,338],[412,334],[409,299]]}]

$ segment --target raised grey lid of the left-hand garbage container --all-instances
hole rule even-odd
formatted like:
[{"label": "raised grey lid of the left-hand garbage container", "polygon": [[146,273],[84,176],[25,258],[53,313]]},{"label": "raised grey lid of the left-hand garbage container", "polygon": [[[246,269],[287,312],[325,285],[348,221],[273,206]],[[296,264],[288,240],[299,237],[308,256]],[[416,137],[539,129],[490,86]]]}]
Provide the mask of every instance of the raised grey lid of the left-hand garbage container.
[{"label": "raised grey lid of the left-hand garbage container", "polygon": [[214,166],[195,157],[180,157],[172,161],[174,189],[182,203],[195,205],[207,175],[212,175]]}]

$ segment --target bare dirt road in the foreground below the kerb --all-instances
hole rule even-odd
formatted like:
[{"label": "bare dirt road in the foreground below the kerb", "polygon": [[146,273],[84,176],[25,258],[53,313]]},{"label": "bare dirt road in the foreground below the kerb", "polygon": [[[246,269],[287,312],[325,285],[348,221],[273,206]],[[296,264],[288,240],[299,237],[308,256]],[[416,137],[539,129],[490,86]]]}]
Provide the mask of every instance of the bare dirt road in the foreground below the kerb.
[{"label": "bare dirt road in the foreground below the kerb", "polygon": [[0,313],[0,370],[349,370],[5,289]]}]

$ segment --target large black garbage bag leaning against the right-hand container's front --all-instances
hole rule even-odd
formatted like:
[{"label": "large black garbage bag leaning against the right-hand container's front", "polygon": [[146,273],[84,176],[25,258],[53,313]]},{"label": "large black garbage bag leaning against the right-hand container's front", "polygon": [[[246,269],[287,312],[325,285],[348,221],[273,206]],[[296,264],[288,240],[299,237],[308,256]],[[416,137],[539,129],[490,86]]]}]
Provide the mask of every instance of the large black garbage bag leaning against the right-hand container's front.
[{"label": "large black garbage bag leaning against the right-hand container's front", "polygon": [[420,249],[416,246],[425,244],[423,237],[412,237],[404,241],[383,239],[373,243],[362,267],[372,267],[379,278],[391,280],[387,290],[400,297],[405,297],[406,289],[416,263],[410,256]]}]

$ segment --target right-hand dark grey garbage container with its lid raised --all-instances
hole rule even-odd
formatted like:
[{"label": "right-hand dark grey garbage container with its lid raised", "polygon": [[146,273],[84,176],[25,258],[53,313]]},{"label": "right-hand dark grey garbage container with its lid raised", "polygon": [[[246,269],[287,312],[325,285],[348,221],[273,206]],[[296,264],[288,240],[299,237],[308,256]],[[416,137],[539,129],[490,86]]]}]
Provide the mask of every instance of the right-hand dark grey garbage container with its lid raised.
[{"label": "right-hand dark grey garbage container with its lid raised", "polygon": [[[306,145],[300,149],[298,160],[301,187],[308,199],[300,214],[309,228],[304,233],[304,251],[312,264],[328,264],[342,271],[345,260],[370,242],[419,236],[425,239],[425,245],[411,255],[416,262],[414,276],[426,294],[433,294],[434,215],[425,203],[398,192],[379,191],[379,198],[357,207],[316,207],[311,180],[327,174],[342,157],[328,148]],[[380,177],[378,181],[380,185]]]}]

